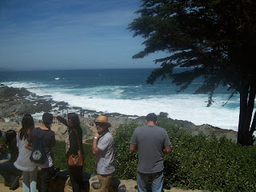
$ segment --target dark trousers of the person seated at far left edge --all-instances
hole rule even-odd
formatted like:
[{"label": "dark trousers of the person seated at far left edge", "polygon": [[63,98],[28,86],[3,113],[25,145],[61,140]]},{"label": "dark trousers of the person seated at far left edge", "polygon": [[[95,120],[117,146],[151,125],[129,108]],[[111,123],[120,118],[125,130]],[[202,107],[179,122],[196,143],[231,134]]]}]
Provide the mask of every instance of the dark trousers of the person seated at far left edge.
[{"label": "dark trousers of the person seated at far left edge", "polygon": [[22,174],[22,171],[14,166],[14,162],[7,161],[0,163],[0,174],[5,178],[6,182],[11,183],[14,182],[17,176]]}]

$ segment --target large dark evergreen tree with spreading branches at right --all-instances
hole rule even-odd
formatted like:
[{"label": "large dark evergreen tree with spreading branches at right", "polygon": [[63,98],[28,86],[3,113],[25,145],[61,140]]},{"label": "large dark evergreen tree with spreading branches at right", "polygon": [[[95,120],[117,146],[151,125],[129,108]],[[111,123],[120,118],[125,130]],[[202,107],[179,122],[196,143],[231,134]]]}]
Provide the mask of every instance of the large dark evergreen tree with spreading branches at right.
[{"label": "large dark evergreen tree with spreading branches at right", "polygon": [[[240,93],[238,142],[251,145],[256,119],[254,109],[256,67],[256,2],[253,0],[141,0],[139,15],[128,29],[142,36],[144,50],[133,58],[164,51],[161,67],[147,79],[170,78],[185,90],[195,78],[204,82],[194,94],[209,94],[226,86],[230,98]],[[173,73],[175,67],[185,67]]]}]

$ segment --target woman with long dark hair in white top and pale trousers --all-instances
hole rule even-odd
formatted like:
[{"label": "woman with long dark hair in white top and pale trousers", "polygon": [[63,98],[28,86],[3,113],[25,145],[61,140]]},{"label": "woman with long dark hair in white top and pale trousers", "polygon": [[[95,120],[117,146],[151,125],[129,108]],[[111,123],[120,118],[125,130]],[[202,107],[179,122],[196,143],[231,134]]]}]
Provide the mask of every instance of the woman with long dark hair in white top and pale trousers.
[{"label": "woman with long dark hair in white top and pale trousers", "polygon": [[31,151],[26,149],[25,143],[30,132],[34,129],[34,118],[31,114],[24,114],[22,118],[22,129],[17,134],[18,158],[14,166],[23,171],[23,192],[34,192],[37,190],[38,167],[30,162]]}]

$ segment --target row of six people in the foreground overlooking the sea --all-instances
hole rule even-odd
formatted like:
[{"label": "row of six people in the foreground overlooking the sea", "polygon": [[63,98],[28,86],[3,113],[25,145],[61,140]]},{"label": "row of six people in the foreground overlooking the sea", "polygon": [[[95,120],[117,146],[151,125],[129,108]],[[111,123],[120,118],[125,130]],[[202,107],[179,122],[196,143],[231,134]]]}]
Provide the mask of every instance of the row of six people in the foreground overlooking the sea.
[{"label": "row of six people in the foreground overlooking the sea", "polygon": [[[80,150],[84,160],[82,128],[78,114],[69,113],[66,118],[62,118],[57,114],[45,113],[42,115],[42,126],[38,128],[34,128],[32,116],[25,114],[22,118],[22,129],[19,130],[18,134],[14,130],[6,132],[6,144],[10,147],[11,154],[9,161],[0,164],[0,174],[5,178],[5,185],[10,186],[10,190],[17,189],[19,177],[23,174],[23,191],[38,191],[38,167],[42,169],[40,190],[42,192],[49,190],[50,179],[56,174],[52,152],[55,145],[55,135],[54,131],[50,129],[53,118],[57,118],[59,122],[68,127],[69,137],[65,141],[66,159],[70,158],[70,155],[77,156],[80,154],[78,153],[78,150]],[[134,130],[130,139],[130,152],[138,150],[138,191],[147,191],[150,184],[152,191],[160,192],[162,191],[163,182],[162,152],[170,153],[170,139],[166,130],[156,126],[156,114],[148,114],[145,122],[145,126],[139,126]],[[97,165],[98,191],[109,191],[111,178],[115,170],[114,138],[109,130],[111,124],[108,122],[108,118],[103,115],[99,115],[94,123],[97,132],[94,133],[92,152],[95,155]],[[12,132],[11,136],[8,136],[10,135],[9,132]],[[38,139],[42,139],[47,154],[47,160],[44,164],[30,161],[31,151]],[[67,167],[73,191],[84,191],[83,166],[70,166],[67,163]]]}]

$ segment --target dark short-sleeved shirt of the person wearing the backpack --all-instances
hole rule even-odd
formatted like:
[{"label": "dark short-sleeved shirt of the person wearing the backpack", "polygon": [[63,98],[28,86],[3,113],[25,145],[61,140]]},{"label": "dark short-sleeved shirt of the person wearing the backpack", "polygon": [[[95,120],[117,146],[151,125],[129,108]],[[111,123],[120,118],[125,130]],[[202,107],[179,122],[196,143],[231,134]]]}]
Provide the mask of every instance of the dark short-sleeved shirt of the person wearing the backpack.
[{"label": "dark short-sleeved shirt of the person wearing the backpack", "polygon": [[34,128],[31,130],[29,137],[26,139],[27,142],[31,143],[32,148],[38,142],[38,138],[42,138],[42,144],[46,149],[47,160],[44,165],[36,164],[41,168],[47,168],[54,166],[53,153],[51,148],[55,146],[55,134],[52,130],[42,130],[41,128]]}]

